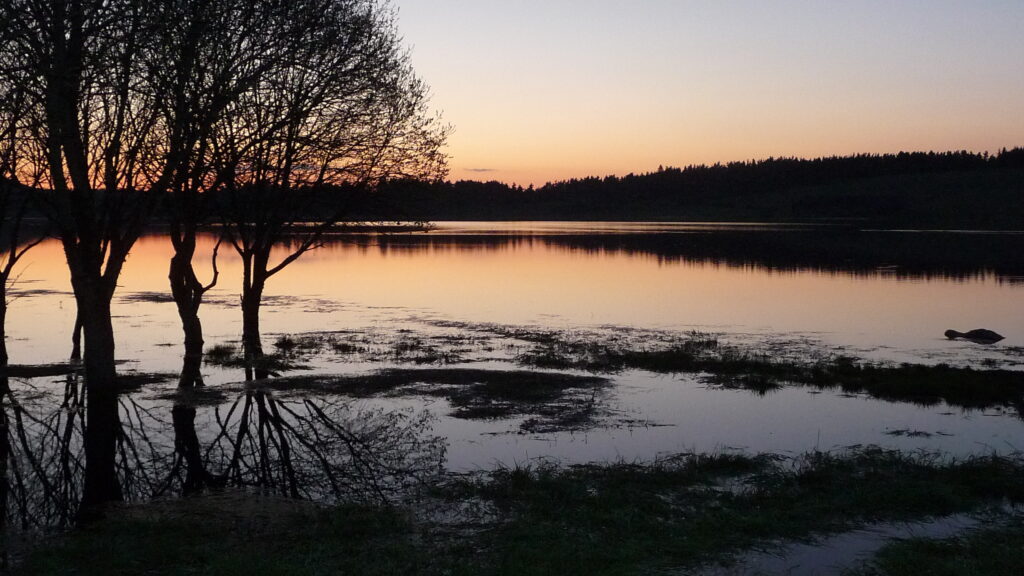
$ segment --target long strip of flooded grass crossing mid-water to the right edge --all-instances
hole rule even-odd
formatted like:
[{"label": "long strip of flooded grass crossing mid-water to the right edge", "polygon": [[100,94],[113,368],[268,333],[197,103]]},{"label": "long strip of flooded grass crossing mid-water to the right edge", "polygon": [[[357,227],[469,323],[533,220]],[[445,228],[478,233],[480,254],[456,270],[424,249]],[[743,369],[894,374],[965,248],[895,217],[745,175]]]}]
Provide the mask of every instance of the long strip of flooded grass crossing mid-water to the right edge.
[{"label": "long strip of flooded grass crossing mid-water to the right edge", "polygon": [[[455,335],[423,335],[409,330],[379,337],[350,332],[284,335],[265,369],[287,370],[309,355],[334,352],[368,362],[392,361],[449,365],[479,360],[474,355],[504,345],[520,366],[584,370],[596,374],[623,370],[699,374],[711,385],[769,394],[786,385],[863,394],[919,405],[946,403],[966,409],[1024,408],[1024,371],[975,369],[945,364],[882,364],[844,356],[815,355],[800,346],[744,347],[702,332],[671,333],[608,328],[567,332],[490,324],[436,323]],[[497,338],[497,339],[495,339]],[[525,345],[525,349],[520,346]],[[486,359],[486,358],[484,358]],[[207,362],[245,366],[239,351],[217,345]],[[479,407],[473,408],[476,410]],[[482,411],[485,408],[479,408]]]}]

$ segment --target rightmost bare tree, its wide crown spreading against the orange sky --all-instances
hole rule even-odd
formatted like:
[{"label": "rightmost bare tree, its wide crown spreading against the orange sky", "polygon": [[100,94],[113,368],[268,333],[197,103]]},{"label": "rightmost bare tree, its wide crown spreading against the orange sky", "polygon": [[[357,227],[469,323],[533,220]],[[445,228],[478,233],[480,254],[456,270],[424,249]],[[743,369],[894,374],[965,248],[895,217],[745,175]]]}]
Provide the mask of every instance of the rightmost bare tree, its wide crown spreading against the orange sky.
[{"label": "rightmost bare tree, its wide crown spreading against the orange sky", "polygon": [[386,4],[301,0],[284,17],[296,34],[274,46],[273,66],[232,102],[212,142],[225,187],[218,209],[243,261],[250,361],[262,356],[269,278],[317,247],[356,195],[389,177],[440,178],[446,168],[449,129],[428,114]]}]

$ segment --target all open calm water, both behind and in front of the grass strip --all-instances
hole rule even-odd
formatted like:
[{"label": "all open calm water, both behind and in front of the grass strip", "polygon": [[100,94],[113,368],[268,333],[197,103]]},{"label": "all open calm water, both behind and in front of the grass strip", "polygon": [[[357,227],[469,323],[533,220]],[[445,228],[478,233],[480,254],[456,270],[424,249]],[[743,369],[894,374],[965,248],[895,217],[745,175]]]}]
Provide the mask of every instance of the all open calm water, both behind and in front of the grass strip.
[{"label": "all open calm water, both behind and in front of the grass strip", "polygon": [[[205,237],[200,253],[208,257],[213,244],[212,236]],[[521,369],[512,359],[524,343],[494,330],[528,327],[578,337],[625,331],[640,344],[646,337],[697,330],[793,356],[844,354],[1020,369],[1022,248],[1019,234],[442,222],[428,233],[333,238],[269,281],[262,328],[266,344],[282,334],[332,331],[349,331],[380,349],[410,340],[475,342],[462,368]],[[321,499],[337,497],[340,490],[325,480],[333,478],[329,466],[318,468],[326,461],[347,470],[352,462],[369,461],[367,469],[355,466],[360,478],[390,474],[380,485],[386,488],[404,482],[393,472],[398,464],[425,470],[434,458],[466,470],[535,457],[650,459],[690,450],[800,453],[879,444],[966,455],[1024,449],[1024,421],[1013,411],[919,407],[805,388],[762,397],[709,386],[699,375],[642,371],[609,376],[609,385],[592,399],[602,415],[592,425],[538,431],[525,425],[529,414],[455,417],[450,401],[436,395],[355,401],[329,395],[254,397],[228,385],[243,380],[240,370],[207,366],[208,387],[232,392],[194,407],[188,420],[175,408],[179,401],[173,395],[181,335],[174,304],[163,297],[170,253],[159,236],[141,240],[115,297],[122,372],[164,377],[122,402],[125,439],[132,447],[124,450],[131,460],[124,467],[126,493],[133,499],[187,485],[175,456],[182,429],[195,431],[211,471],[234,470],[228,476],[240,485]],[[7,320],[12,363],[61,362],[70,353],[75,305],[60,247],[41,244],[24,262]],[[222,251],[220,269],[220,284],[201,311],[208,346],[237,342],[241,334],[239,261]],[[942,337],[948,328],[978,327],[1007,339],[979,346]],[[425,367],[400,356],[337,354],[306,359],[306,365],[302,374]],[[30,457],[33,451],[50,454],[43,458],[50,467],[37,466],[37,480],[48,474],[74,477],[68,470],[75,466],[61,463],[57,454],[59,446],[74,453],[78,441],[69,433],[60,444],[54,430],[80,425],[78,388],[69,388],[63,377],[23,379],[12,388],[30,433],[28,443],[15,447],[17,458],[28,462],[39,460]],[[275,425],[279,440],[266,448],[261,435]],[[341,448],[327,458],[315,453],[316,446],[334,446],[325,439],[340,438],[341,428],[362,438],[379,461]],[[301,464],[293,466],[298,476],[294,469],[291,477],[274,471],[282,461],[274,442],[286,437],[292,438],[289,458]],[[73,496],[71,477],[66,481]],[[346,490],[358,492],[356,484]],[[56,505],[40,502],[40,509]]]}]

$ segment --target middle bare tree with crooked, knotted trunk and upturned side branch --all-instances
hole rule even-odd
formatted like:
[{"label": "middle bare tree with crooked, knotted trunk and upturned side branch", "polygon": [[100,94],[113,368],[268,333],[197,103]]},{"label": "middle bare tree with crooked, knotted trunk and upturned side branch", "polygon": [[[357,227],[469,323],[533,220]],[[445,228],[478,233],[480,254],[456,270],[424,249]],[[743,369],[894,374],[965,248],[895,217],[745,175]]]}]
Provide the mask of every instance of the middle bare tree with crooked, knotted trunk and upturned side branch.
[{"label": "middle bare tree with crooked, knotted trunk and upturned side branch", "polygon": [[179,385],[202,384],[203,327],[199,308],[218,279],[217,248],[209,282],[195,268],[199,227],[207,219],[206,197],[223,186],[213,171],[211,143],[218,123],[240,95],[273,66],[283,38],[295,23],[283,20],[275,2],[163,0],[154,2],[153,43],[144,55],[145,81],[161,94],[162,143],[170,236],[174,247],[168,279],[184,333]]}]

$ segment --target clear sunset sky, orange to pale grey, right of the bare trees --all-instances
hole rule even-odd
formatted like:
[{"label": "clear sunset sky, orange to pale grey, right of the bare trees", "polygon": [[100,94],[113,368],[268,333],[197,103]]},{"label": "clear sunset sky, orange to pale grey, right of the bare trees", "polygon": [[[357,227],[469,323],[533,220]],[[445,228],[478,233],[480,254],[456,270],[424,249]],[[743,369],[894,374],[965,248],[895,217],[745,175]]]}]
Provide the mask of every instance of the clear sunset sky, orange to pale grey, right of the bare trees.
[{"label": "clear sunset sky, orange to pale grey, right of the bare trees", "polygon": [[393,0],[452,179],[1024,146],[1024,0]]}]

